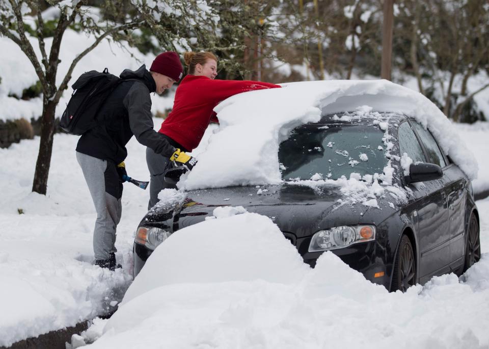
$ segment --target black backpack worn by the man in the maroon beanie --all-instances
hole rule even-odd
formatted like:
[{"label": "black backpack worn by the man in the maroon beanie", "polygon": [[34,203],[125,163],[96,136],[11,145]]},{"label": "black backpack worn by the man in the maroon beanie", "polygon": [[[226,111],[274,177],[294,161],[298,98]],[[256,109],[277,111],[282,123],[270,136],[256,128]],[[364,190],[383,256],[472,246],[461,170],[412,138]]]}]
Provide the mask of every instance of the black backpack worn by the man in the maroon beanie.
[{"label": "black backpack worn by the man in the maroon beanie", "polygon": [[91,70],[71,86],[73,93],[60,120],[60,127],[72,135],[83,135],[97,125],[97,113],[105,99],[122,82],[115,75]]}]

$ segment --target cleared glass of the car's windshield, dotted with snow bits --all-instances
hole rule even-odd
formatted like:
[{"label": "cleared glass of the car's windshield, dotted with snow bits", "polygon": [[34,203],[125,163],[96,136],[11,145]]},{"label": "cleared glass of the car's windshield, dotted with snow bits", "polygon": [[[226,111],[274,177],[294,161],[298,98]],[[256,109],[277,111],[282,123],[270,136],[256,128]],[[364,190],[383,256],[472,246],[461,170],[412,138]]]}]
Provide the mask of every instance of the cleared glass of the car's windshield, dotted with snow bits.
[{"label": "cleared glass of the car's windshield, dotted with snow bits", "polygon": [[380,174],[387,165],[383,137],[383,131],[365,124],[304,125],[280,144],[282,179],[335,180],[349,178],[352,172],[362,177]]}]

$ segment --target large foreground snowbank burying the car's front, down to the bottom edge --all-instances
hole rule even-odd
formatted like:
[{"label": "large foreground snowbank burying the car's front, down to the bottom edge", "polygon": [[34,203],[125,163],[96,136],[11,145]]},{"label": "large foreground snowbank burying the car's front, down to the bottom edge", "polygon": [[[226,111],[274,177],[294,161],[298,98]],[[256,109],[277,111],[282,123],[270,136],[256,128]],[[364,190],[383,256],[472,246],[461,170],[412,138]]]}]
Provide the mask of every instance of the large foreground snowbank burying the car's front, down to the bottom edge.
[{"label": "large foreground snowbank burying the car's front, down to the bottom edge", "polygon": [[305,266],[280,235],[251,213],[178,231],[149,258],[92,347],[489,345],[487,254],[465,282],[450,274],[388,293],[331,252]]}]

